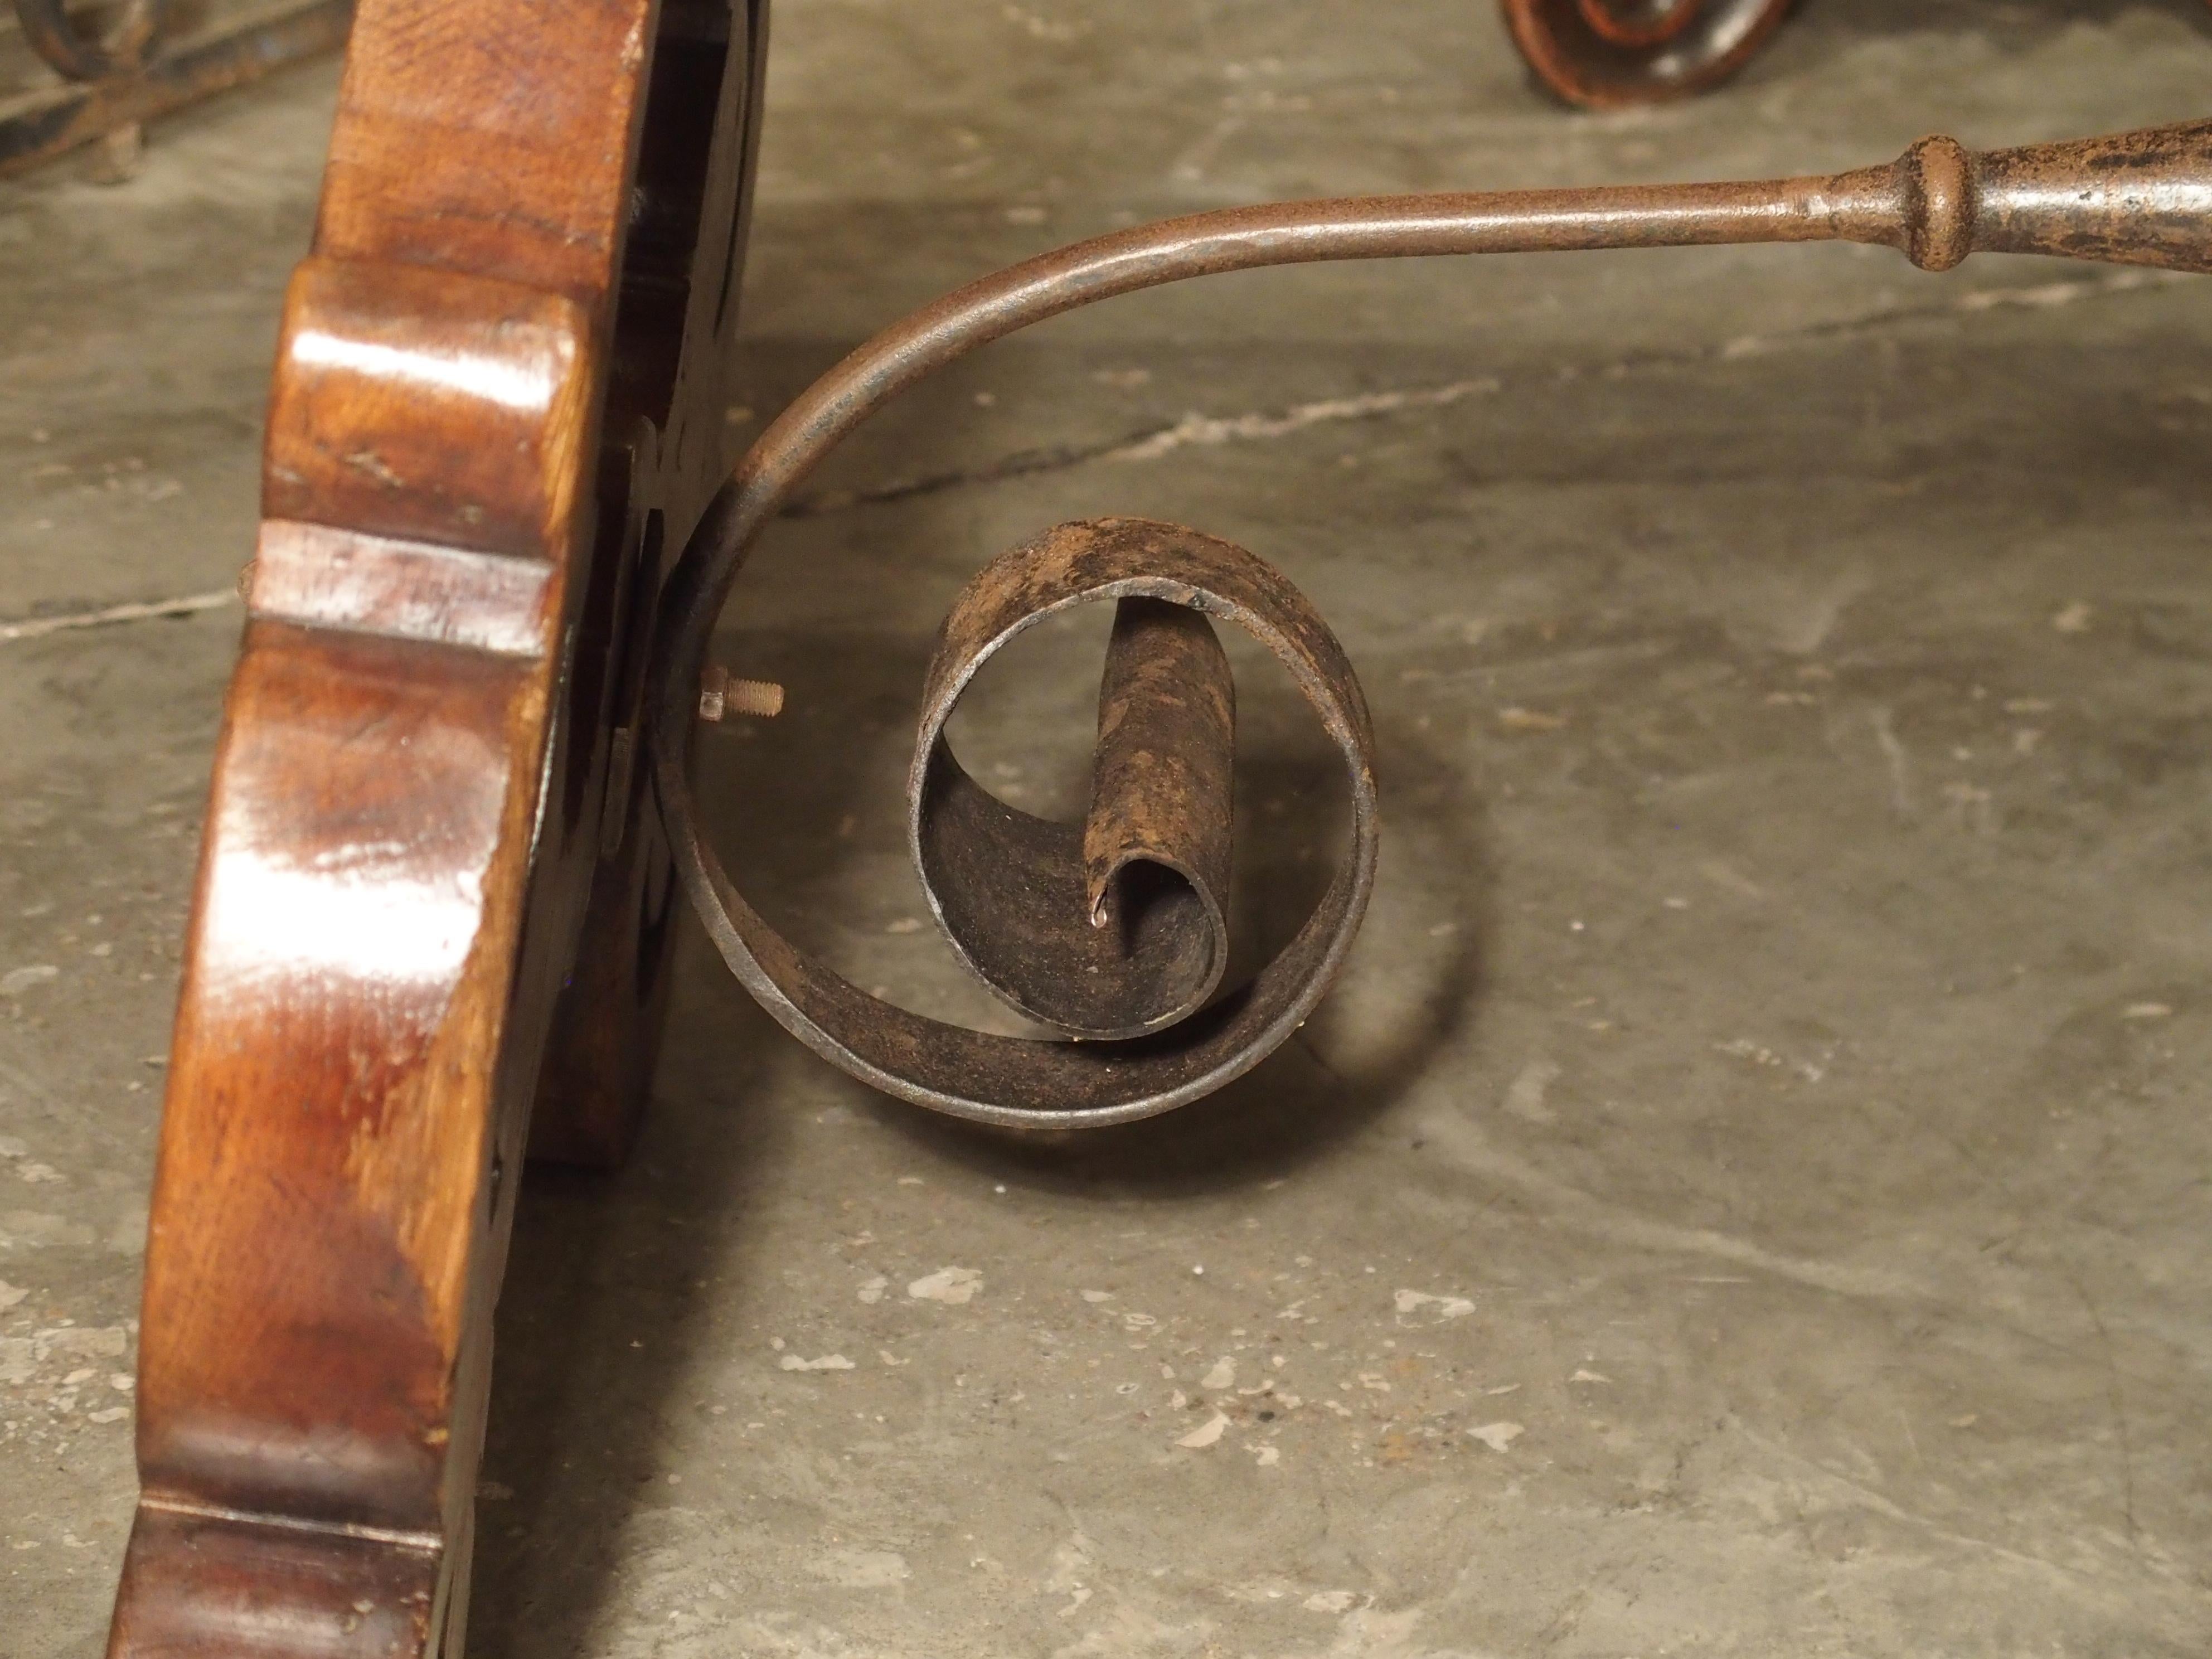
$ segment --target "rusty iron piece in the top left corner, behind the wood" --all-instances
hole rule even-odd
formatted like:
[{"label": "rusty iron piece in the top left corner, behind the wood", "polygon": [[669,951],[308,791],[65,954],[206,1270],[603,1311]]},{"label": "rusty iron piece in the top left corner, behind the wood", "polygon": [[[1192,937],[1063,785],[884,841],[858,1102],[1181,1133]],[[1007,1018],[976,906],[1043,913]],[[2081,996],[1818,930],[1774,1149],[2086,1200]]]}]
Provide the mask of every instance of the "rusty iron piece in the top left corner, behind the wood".
[{"label": "rusty iron piece in the top left corner, behind the wood", "polygon": [[77,33],[58,0],[15,0],[15,9],[38,55],[69,80],[0,104],[0,179],[338,51],[354,18],[354,0],[294,0],[164,51],[159,2],[131,7],[100,38]]}]

